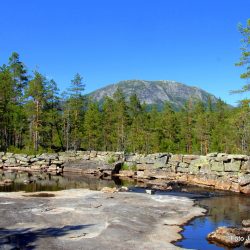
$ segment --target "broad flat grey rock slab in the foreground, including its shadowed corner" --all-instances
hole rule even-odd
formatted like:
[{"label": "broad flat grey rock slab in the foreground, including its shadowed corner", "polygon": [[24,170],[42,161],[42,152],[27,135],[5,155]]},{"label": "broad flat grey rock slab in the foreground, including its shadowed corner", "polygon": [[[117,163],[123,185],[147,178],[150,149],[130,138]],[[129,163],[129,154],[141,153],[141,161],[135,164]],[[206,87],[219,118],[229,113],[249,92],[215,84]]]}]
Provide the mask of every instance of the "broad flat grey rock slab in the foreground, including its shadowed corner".
[{"label": "broad flat grey rock slab in the foreground, including its shadowed corner", "polygon": [[[41,194],[41,193],[40,193]],[[205,210],[185,197],[86,189],[0,193],[0,249],[177,249]]]}]

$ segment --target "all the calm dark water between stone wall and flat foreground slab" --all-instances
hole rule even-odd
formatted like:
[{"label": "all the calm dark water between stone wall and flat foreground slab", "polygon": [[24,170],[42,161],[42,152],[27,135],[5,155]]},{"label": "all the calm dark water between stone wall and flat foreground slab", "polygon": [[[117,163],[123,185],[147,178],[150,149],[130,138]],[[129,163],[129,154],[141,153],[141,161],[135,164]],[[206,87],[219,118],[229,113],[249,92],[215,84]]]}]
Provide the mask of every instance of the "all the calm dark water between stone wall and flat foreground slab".
[{"label": "all the calm dark water between stone wall and flat foreground slab", "polygon": [[[12,180],[9,185],[0,185],[0,192],[12,191],[59,191],[72,188],[101,190],[103,187],[129,186],[133,192],[145,192],[136,182],[120,179],[98,179],[81,175],[51,175],[0,172],[0,183],[4,179]],[[183,188],[182,188],[183,189]],[[175,245],[191,249],[223,249],[206,240],[208,233],[219,226],[240,226],[243,219],[250,218],[250,197],[227,192],[213,192],[209,189],[185,187],[185,192],[157,191],[156,194],[172,194],[196,197],[196,204],[207,209],[206,216],[198,217],[183,227],[183,239]],[[196,196],[193,196],[195,194]],[[226,249],[226,248],[225,248]],[[238,248],[244,249],[244,248]]]}]

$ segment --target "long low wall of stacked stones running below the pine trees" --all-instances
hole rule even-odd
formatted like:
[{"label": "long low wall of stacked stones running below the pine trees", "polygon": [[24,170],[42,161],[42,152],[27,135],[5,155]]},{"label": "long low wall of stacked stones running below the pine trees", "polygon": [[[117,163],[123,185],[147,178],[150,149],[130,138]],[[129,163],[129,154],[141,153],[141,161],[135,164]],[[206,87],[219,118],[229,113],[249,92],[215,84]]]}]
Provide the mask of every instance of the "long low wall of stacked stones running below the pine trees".
[{"label": "long low wall of stacked stones running below the pine trees", "polygon": [[117,175],[142,182],[172,181],[250,194],[250,157],[247,155],[144,155],[100,151],[26,155],[0,152],[0,168],[57,173],[68,171],[98,177]]}]

